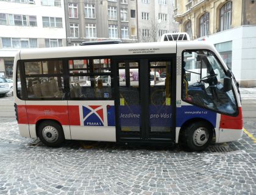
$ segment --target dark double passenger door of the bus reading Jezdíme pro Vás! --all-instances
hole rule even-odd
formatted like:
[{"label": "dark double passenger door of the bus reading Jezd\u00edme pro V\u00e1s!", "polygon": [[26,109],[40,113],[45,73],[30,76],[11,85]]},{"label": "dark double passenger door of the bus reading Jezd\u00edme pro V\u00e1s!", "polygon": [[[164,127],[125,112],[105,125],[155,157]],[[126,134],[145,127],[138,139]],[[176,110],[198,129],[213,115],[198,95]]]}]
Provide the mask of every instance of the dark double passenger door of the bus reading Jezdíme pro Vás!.
[{"label": "dark double passenger door of the bus reading Jezd\u00edme pro V\u00e1s!", "polygon": [[118,141],[174,140],[173,59],[116,60]]}]

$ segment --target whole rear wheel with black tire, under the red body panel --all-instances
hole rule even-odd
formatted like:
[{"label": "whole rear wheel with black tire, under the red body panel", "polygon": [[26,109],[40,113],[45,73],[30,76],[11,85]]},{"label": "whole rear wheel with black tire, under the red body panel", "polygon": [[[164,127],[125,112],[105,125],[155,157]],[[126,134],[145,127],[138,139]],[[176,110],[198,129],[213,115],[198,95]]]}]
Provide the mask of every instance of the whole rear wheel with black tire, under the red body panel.
[{"label": "whole rear wheel with black tire, under the red body panel", "polygon": [[58,147],[65,140],[62,126],[55,121],[41,122],[38,126],[38,137],[50,147]]}]

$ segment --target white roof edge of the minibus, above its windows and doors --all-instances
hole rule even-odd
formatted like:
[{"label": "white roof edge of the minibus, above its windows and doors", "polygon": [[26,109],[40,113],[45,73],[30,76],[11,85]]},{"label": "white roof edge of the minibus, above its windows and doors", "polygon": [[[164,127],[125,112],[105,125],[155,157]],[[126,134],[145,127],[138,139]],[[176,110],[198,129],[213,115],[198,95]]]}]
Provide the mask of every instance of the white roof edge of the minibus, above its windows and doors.
[{"label": "white roof edge of the minibus, above its windows and doors", "polygon": [[112,55],[175,54],[179,49],[214,49],[205,41],[163,41],[152,43],[99,44],[62,48],[21,49],[20,59],[55,59],[65,57],[95,57]]}]

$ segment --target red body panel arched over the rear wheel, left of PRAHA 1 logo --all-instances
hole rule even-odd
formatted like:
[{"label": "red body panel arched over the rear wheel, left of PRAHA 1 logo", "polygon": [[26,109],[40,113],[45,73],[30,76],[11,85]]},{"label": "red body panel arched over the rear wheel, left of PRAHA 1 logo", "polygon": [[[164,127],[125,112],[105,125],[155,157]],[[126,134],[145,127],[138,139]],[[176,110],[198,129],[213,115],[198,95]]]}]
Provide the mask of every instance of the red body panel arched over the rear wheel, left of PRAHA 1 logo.
[{"label": "red body panel arched over the rear wheel, left of PRAHA 1 logo", "polygon": [[53,119],[62,125],[69,125],[67,105],[27,105],[29,124],[36,124],[40,119]]}]

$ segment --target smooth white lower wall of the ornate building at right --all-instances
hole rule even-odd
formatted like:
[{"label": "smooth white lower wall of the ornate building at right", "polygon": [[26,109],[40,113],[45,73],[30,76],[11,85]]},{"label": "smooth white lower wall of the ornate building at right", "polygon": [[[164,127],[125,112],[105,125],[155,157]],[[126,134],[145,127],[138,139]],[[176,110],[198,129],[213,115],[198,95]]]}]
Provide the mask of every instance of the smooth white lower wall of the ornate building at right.
[{"label": "smooth white lower wall of the ornate building at right", "polygon": [[205,37],[213,44],[232,41],[232,72],[244,87],[256,86],[256,26],[240,26]]}]

